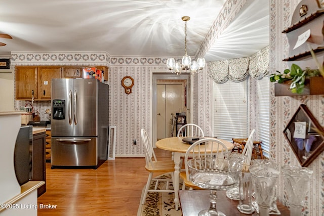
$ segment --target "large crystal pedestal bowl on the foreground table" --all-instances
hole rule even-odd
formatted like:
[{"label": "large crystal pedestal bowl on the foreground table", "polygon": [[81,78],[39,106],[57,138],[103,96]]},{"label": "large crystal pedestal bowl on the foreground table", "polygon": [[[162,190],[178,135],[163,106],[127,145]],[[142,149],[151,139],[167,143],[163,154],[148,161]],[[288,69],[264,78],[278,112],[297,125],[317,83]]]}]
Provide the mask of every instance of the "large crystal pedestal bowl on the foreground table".
[{"label": "large crystal pedestal bowl on the foreground table", "polygon": [[203,189],[210,189],[210,208],[199,212],[199,216],[226,216],[216,209],[218,190],[227,190],[237,183],[237,172],[228,167],[228,159],[193,158],[188,161],[190,181]]}]

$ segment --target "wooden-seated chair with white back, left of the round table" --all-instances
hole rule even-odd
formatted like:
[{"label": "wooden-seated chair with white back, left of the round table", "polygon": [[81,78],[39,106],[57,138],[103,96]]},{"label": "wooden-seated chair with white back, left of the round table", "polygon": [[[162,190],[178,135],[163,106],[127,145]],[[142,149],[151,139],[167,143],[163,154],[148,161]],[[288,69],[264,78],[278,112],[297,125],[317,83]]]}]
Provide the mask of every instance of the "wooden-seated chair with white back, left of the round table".
[{"label": "wooden-seated chair with white back, left of the round table", "polygon": [[[141,137],[144,143],[144,150],[145,150],[145,160],[146,165],[145,169],[149,172],[147,183],[145,186],[145,191],[143,194],[142,204],[145,203],[146,195],[148,192],[175,192],[174,189],[170,189],[169,185],[174,180],[174,162],[172,160],[157,160],[156,155],[154,153],[154,149],[152,143],[149,139],[148,134],[146,133],[145,129],[141,129]],[[154,172],[166,172],[171,174],[171,179],[164,179],[164,178],[153,178]],[[150,188],[151,184],[155,182],[154,188]],[[165,189],[158,189],[159,182],[166,182]],[[172,185],[173,186],[173,185]]]}]

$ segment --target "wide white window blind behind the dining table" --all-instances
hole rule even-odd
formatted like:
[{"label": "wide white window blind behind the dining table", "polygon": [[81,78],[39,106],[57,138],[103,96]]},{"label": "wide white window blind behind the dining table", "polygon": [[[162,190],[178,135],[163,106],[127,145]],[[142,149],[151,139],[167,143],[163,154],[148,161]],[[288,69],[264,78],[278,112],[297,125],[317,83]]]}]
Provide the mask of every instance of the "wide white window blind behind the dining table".
[{"label": "wide white window blind behind the dining table", "polygon": [[213,84],[214,136],[232,142],[247,137],[249,118],[247,80]]}]

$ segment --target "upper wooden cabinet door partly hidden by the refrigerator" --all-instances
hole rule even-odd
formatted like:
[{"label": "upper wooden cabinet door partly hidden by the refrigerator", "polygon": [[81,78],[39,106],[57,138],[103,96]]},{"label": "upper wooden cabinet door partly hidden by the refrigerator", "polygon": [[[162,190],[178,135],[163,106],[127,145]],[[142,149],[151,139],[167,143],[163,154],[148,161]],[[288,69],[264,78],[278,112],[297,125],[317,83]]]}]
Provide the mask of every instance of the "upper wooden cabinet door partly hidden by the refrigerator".
[{"label": "upper wooden cabinet door partly hidden by the refrigerator", "polygon": [[39,99],[51,100],[52,79],[61,78],[61,71],[59,66],[38,67]]}]

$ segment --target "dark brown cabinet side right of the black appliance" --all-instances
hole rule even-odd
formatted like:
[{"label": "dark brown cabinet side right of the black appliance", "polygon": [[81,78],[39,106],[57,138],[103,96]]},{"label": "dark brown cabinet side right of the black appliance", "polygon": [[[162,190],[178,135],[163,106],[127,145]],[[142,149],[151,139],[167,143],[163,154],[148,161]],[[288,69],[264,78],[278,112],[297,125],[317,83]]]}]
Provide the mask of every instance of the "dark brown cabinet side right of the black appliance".
[{"label": "dark brown cabinet side right of the black appliance", "polygon": [[31,181],[44,181],[45,184],[37,189],[37,196],[46,192],[46,134],[45,132],[34,134],[32,140],[32,168]]}]

